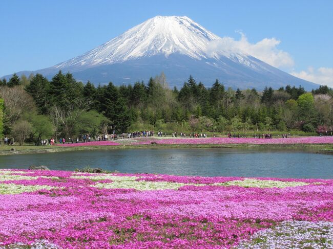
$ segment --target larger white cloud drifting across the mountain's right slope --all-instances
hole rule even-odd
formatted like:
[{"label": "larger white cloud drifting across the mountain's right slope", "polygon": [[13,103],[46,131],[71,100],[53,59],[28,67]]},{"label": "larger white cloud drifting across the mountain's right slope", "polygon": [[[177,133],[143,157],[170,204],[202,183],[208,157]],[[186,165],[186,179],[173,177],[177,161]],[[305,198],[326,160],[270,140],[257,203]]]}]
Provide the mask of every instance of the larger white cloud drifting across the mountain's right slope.
[{"label": "larger white cloud drifting across the mountain's right slope", "polygon": [[243,33],[238,33],[241,34],[240,40],[223,37],[220,40],[212,41],[207,47],[207,53],[213,55],[214,51],[217,50],[224,54],[242,52],[280,69],[290,70],[294,66],[294,60],[289,53],[277,48],[281,42],[280,40],[264,38],[256,43],[251,43]]}]

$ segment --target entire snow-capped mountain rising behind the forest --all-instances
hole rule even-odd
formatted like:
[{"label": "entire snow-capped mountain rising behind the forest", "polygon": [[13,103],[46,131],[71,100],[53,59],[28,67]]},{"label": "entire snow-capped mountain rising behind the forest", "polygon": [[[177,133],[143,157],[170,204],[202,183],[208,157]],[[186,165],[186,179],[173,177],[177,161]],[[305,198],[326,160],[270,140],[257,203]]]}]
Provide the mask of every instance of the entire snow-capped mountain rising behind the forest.
[{"label": "entire snow-capped mountain rising behind the forest", "polygon": [[170,86],[181,86],[192,75],[210,86],[219,79],[233,88],[278,88],[318,85],[287,74],[241,51],[212,49],[221,38],[186,16],[156,16],[101,46],[65,62],[33,72],[51,78],[59,70],[95,84],[147,81],[161,72]]}]

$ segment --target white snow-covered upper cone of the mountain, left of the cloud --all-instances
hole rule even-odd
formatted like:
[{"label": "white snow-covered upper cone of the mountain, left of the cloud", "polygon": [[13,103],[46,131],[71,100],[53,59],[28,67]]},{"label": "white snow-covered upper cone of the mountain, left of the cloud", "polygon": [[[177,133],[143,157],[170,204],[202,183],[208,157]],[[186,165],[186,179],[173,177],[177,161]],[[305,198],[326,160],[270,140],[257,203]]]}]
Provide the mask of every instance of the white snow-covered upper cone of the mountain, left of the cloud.
[{"label": "white snow-covered upper cone of the mountain, left of the cloud", "polygon": [[173,53],[206,58],[207,44],[220,37],[186,16],[155,16],[81,56],[56,66],[113,64],[143,56]]}]

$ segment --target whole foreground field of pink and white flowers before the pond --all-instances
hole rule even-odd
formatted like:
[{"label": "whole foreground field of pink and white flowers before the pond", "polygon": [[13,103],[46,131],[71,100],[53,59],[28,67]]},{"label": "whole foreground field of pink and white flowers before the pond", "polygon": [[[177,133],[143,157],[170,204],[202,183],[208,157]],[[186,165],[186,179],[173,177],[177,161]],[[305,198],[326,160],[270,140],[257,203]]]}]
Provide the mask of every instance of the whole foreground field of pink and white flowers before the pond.
[{"label": "whole foreground field of pink and white flowers before the pond", "polygon": [[0,248],[332,248],[333,180],[0,170]]}]

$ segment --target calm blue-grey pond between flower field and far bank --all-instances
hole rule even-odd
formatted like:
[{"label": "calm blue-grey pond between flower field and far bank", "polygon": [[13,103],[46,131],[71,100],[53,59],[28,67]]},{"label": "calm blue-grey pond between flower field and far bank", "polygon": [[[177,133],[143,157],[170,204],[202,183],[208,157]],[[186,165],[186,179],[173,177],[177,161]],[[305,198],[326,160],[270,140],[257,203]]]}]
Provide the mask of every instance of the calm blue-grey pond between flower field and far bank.
[{"label": "calm blue-grey pond between flower field and far bank", "polygon": [[333,178],[333,156],[295,150],[225,148],[112,149],[0,156],[0,168],[52,170],[86,166],[122,173]]}]

